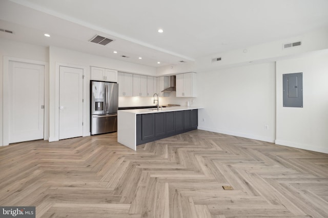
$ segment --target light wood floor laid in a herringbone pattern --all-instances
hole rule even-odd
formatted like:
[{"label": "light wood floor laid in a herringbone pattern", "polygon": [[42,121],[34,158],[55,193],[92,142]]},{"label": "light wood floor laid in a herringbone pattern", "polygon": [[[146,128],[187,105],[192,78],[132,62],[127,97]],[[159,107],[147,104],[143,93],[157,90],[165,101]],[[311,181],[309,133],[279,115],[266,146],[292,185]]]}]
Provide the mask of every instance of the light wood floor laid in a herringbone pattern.
[{"label": "light wood floor laid in a herringbone pattern", "polygon": [[201,130],[136,152],[116,137],[0,148],[0,205],[36,217],[328,217],[327,154]]}]

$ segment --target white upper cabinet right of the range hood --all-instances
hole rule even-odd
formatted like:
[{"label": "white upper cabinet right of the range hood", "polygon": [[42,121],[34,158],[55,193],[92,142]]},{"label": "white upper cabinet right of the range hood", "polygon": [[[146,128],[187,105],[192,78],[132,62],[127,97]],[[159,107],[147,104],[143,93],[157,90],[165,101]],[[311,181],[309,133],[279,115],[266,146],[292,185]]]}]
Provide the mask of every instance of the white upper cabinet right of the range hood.
[{"label": "white upper cabinet right of the range hood", "polygon": [[196,73],[187,72],[176,75],[176,96],[196,97],[196,95]]}]

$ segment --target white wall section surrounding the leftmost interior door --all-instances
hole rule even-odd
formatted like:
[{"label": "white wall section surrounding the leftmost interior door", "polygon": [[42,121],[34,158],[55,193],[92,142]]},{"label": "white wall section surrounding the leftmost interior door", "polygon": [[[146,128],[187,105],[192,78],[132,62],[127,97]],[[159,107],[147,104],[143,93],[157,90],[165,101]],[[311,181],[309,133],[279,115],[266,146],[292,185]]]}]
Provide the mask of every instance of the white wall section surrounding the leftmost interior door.
[{"label": "white wall section surrounding the leftmost interior door", "polygon": [[[36,61],[36,62],[44,62],[48,63],[49,60],[49,50],[46,47],[43,46],[37,46],[37,45],[31,45],[26,43],[21,43],[17,41],[11,41],[7,39],[0,38],[0,146],[4,144],[4,138],[9,137],[7,126],[3,127],[4,124],[4,116],[8,114],[8,111],[3,111],[4,105],[3,100],[6,95],[8,95],[7,91],[4,90],[3,81],[4,74],[8,75],[8,63],[4,63],[4,59],[7,60],[19,60],[19,61]],[[48,65],[45,69],[45,96],[48,94],[48,80],[49,80],[49,70]],[[45,99],[45,137],[48,137],[48,117],[49,113],[46,110],[47,105],[49,102],[47,102],[48,99]],[[6,107],[5,107],[6,108]],[[5,132],[6,135],[3,135]],[[6,140],[7,141],[7,140]],[[7,144],[7,143],[6,143]]]}]

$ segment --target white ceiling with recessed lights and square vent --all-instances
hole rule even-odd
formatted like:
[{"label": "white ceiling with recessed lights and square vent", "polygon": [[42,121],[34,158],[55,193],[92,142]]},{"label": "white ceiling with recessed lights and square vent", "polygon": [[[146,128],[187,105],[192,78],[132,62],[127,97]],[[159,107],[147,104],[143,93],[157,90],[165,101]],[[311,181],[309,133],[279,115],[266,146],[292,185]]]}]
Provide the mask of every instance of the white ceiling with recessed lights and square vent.
[{"label": "white ceiling with recessed lights and square vent", "polygon": [[0,37],[157,67],[328,27],[327,11],[327,0],[1,0],[0,29],[14,34]]}]

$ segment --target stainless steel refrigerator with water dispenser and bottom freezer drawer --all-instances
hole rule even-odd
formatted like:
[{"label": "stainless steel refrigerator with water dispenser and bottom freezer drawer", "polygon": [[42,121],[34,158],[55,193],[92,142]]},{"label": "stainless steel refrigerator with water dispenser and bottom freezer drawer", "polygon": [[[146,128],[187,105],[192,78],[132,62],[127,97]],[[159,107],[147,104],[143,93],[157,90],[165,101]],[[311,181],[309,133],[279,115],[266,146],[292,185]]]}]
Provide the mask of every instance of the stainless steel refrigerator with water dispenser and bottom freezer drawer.
[{"label": "stainless steel refrigerator with water dispenser and bottom freezer drawer", "polygon": [[118,84],[90,81],[91,135],[117,131]]}]

